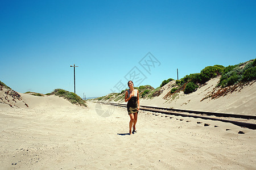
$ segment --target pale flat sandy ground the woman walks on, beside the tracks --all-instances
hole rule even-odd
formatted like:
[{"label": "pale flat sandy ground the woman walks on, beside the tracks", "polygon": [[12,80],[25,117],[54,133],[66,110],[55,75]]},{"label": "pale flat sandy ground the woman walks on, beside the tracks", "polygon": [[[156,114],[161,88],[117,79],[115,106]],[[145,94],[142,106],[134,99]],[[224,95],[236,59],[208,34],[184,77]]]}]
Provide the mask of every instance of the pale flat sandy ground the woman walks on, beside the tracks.
[{"label": "pale flat sandy ground the woman walks on, beside the tracks", "polygon": [[126,108],[23,100],[29,108],[0,105],[0,169],[256,169],[255,130],[140,112],[128,135]]}]

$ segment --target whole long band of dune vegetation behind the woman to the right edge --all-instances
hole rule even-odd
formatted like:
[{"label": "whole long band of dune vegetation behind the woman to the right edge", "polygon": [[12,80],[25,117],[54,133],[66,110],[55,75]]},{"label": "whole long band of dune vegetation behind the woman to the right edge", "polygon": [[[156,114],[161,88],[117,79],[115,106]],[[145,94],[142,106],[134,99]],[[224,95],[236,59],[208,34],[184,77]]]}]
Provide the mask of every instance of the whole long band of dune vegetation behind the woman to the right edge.
[{"label": "whole long band of dune vegetation behind the woman to the right edge", "polygon": [[[222,90],[218,90],[216,94],[212,94],[211,96],[220,96],[220,94],[232,92],[234,91],[234,88],[243,86],[241,84],[248,84],[249,82],[255,81],[256,61],[255,59],[251,59],[250,61],[240,63],[239,65],[227,67],[222,65],[207,66],[201,70],[200,73],[189,74],[180,80],[176,80],[175,83],[172,84],[170,92],[163,98],[168,99],[171,96],[177,96],[180,91],[183,91],[184,94],[191,94],[192,92],[195,92],[197,88],[204,86],[210,79],[216,78],[217,76],[220,76],[220,81],[216,88],[214,88],[214,91],[217,91],[217,88],[222,88]],[[173,80],[174,79],[172,78],[163,80],[160,86],[156,89],[149,85],[135,87],[135,89],[138,89],[140,98],[151,99],[152,97],[159,96],[161,94],[161,87]],[[230,87],[233,85],[236,86]],[[126,90],[123,90],[120,93],[98,97],[97,100],[124,100]]]}]

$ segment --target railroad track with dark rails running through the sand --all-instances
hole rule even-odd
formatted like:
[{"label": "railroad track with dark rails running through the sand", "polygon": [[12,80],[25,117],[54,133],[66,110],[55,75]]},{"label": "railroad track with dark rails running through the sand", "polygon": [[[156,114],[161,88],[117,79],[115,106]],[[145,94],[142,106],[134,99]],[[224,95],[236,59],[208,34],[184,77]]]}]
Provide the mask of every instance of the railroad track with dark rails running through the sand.
[{"label": "railroad track with dark rails running through the sand", "polygon": [[[101,102],[101,103],[110,104],[110,105],[114,105],[117,107],[126,107],[126,104],[105,103],[105,102]],[[249,116],[249,115],[242,115],[242,114],[191,111],[191,110],[185,110],[185,109],[150,107],[150,106],[146,106],[146,105],[141,105],[140,110],[169,114],[169,115],[174,115],[174,116],[193,117],[193,118],[202,118],[204,120],[229,122],[229,123],[232,123],[237,126],[241,126],[241,127],[245,127],[245,128],[249,128],[249,129],[256,129],[256,124],[251,124],[251,123],[245,122],[246,120],[253,120],[253,121],[256,120],[256,116]],[[218,117],[218,118],[216,118],[216,117]],[[238,118],[240,118],[239,121],[237,121]]]}]

